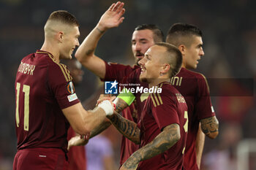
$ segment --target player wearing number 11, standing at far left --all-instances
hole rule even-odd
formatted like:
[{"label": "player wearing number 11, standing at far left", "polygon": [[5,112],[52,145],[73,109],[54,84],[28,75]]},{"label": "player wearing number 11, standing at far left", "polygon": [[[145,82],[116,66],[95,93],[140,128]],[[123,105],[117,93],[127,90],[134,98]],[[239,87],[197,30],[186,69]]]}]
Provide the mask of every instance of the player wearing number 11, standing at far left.
[{"label": "player wearing number 11, standing at far left", "polygon": [[78,21],[67,11],[53,12],[45,23],[41,50],[22,59],[15,80],[18,152],[14,170],[67,169],[67,129],[86,135],[113,114],[103,101],[83,109],[68,69],[60,59],[72,58],[79,45]]}]

